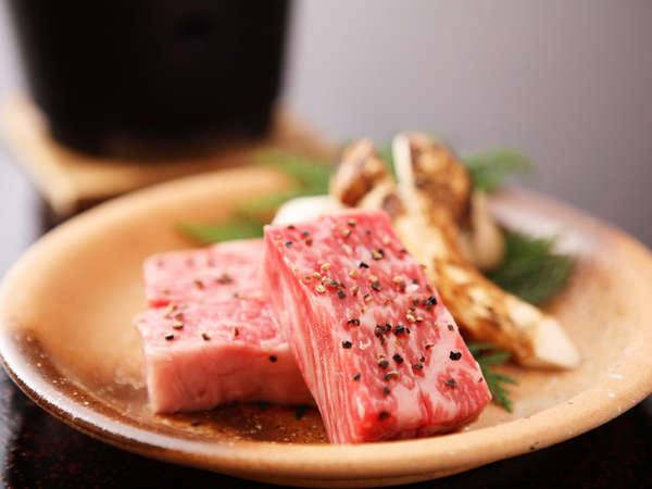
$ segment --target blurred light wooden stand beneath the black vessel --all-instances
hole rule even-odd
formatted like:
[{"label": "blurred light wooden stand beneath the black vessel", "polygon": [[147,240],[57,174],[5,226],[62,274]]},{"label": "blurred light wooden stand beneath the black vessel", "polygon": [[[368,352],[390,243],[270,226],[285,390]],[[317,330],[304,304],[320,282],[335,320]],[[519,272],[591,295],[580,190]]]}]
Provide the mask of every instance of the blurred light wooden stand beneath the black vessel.
[{"label": "blurred light wooden stand beneath the black vessel", "polygon": [[8,148],[51,208],[55,221],[152,184],[250,164],[254,153],[263,148],[315,158],[333,155],[331,145],[284,110],[277,111],[272,130],[263,139],[218,141],[203,145],[201,149],[188,148],[183,156],[172,158],[145,153],[147,158],[139,160],[98,158],[63,147],[50,137],[42,114],[24,96],[4,100],[0,108],[0,130]]}]

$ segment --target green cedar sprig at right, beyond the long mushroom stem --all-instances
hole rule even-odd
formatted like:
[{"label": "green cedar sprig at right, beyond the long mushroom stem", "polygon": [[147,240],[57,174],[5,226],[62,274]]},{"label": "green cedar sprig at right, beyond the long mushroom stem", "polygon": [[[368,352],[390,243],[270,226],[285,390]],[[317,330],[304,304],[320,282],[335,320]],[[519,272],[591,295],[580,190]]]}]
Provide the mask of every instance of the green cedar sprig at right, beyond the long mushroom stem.
[{"label": "green cedar sprig at right, beyond the long mushroom stem", "polygon": [[542,304],[562,290],[575,259],[554,252],[555,238],[532,238],[505,231],[505,256],[487,277],[504,290],[532,304]]}]

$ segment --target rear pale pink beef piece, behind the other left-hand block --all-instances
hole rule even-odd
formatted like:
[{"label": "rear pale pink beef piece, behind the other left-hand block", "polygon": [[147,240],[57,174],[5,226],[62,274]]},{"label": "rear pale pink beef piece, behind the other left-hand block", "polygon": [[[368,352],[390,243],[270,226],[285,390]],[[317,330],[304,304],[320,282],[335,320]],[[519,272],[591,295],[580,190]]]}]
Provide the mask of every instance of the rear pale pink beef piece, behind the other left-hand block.
[{"label": "rear pale pink beef piece, behind the other left-hand block", "polygon": [[[145,262],[150,305],[261,296],[262,239],[227,241],[197,250],[154,254]],[[254,265],[254,266],[252,266]]]}]

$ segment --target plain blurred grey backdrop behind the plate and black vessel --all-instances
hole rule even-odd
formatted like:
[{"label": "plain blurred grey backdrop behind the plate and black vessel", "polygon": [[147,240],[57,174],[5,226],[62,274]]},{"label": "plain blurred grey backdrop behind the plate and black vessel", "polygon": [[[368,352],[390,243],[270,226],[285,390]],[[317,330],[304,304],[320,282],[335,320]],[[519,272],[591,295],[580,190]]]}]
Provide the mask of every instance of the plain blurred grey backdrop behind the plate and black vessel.
[{"label": "plain blurred grey backdrop behind the plate and black vessel", "polygon": [[[528,185],[652,244],[652,2],[309,0],[289,33],[283,101],[331,139],[423,128],[461,150],[513,146],[537,163]],[[0,95],[24,86],[18,66],[2,2]],[[5,221],[34,195],[5,153],[0,176]]]}]

